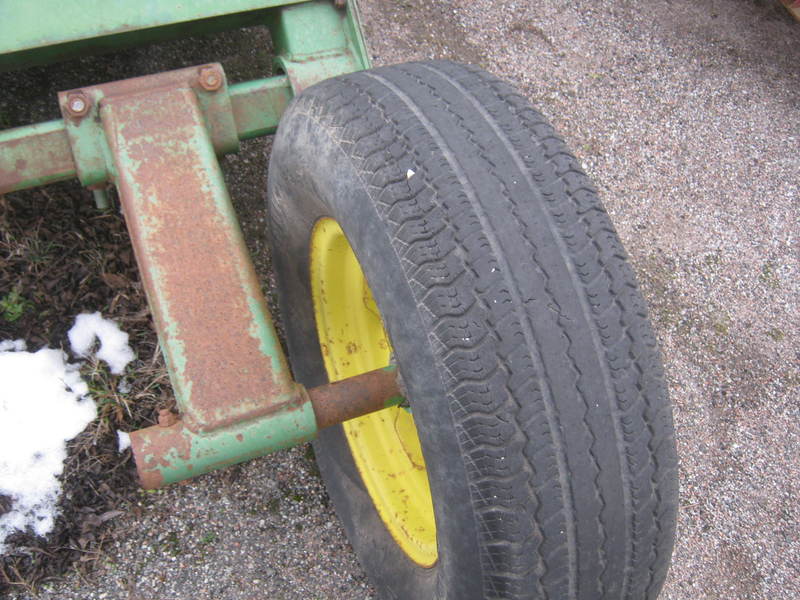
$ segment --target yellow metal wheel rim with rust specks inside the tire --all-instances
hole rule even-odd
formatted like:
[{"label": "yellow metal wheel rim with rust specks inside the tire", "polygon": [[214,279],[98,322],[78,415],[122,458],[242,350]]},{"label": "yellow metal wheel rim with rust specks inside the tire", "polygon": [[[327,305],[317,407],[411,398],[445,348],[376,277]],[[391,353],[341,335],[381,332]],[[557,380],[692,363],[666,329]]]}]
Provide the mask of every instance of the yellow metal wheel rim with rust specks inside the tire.
[{"label": "yellow metal wheel rim with rust specks inside the tire", "polygon": [[[311,294],[322,357],[331,381],[389,364],[391,346],[355,254],[333,219],[311,235]],[[428,473],[411,413],[387,408],[343,424],[378,514],[408,557],[436,562],[436,524]]]}]

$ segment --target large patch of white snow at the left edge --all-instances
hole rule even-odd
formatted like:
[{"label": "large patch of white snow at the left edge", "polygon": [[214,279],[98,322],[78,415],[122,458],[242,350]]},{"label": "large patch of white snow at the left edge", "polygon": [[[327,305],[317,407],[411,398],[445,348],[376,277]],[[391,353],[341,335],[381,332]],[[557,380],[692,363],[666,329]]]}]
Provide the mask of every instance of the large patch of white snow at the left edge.
[{"label": "large patch of white snow at the left edge", "polygon": [[22,340],[0,342],[0,494],[12,502],[0,516],[0,554],[16,531],[53,529],[66,442],[97,416],[79,365],[61,350],[24,349]]}]

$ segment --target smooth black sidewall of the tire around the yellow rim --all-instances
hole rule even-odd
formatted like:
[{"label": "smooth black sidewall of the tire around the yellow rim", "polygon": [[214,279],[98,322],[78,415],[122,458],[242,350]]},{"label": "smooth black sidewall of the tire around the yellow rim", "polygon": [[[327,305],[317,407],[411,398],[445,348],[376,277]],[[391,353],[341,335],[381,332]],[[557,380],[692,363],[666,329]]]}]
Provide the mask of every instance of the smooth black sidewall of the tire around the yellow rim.
[{"label": "smooth black sidewall of the tire around the yellow rim", "polygon": [[295,377],[307,387],[327,381],[310,287],[314,224],[335,219],[370,284],[408,390],[425,458],[439,559],[425,569],[391,538],[366,491],[341,426],[320,432],[321,473],[351,543],[373,583],[388,598],[480,598],[477,523],[466,468],[426,326],[369,188],[333,131],[311,115],[285,113],[273,146],[268,184],[273,265]]}]

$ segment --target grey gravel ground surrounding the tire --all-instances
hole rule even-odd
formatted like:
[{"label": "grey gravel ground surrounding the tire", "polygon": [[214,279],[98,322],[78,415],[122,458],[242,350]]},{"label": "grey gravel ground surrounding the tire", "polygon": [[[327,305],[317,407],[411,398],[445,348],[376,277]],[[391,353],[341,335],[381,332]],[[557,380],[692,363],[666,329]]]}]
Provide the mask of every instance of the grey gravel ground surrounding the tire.
[{"label": "grey gravel ground surrounding the tire", "polygon": [[[377,64],[451,58],[508,78],[600,188],[675,404],[681,512],[662,597],[800,597],[800,24],[747,0],[360,5]],[[257,47],[238,52],[258,62]],[[226,162],[263,257],[262,153]],[[374,594],[306,448],[140,493],[114,526],[91,581],[41,597]]]}]

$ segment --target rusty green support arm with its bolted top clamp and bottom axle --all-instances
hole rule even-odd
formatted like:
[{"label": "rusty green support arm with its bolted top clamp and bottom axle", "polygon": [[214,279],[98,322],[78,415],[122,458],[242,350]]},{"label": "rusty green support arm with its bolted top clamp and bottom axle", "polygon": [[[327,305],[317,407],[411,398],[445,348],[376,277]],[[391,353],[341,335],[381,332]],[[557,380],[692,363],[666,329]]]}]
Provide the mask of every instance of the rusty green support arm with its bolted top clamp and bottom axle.
[{"label": "rusty green support arm with its bolted top clamp and bottom axle", "polygon": [[82,178],[107,173],[119,190],[181,413],[131,434],[146,487],[308,441],[400,400],[393,369],[308,393],[293,381],[216,157],[237,135],[219,65],[60,98],[73,152],[86,159]]}]

